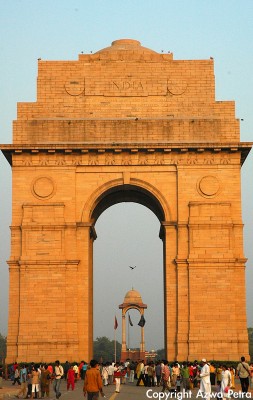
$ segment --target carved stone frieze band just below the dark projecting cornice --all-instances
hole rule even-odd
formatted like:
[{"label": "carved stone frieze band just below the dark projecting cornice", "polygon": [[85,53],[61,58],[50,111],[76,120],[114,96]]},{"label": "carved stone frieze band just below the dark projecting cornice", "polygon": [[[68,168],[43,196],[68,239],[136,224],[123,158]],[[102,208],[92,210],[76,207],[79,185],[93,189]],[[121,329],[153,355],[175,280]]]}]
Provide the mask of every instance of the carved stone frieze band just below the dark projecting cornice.
[{"label": "carved stone frieze band just below the dark projecting cornice", "polygon": [[90,151],[90,152],[15,152],[14,166],[112,166],[112,165],[228,165],[238,164],[238,153],[193,151]]}]

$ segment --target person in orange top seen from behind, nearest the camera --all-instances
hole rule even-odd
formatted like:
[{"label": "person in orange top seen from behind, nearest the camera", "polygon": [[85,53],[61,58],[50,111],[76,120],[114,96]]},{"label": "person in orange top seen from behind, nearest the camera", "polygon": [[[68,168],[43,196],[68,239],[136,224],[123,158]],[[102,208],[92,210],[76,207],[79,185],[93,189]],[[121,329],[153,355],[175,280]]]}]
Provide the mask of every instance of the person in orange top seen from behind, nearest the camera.
[{"label": "person in orange top seen from behind, nearest the camera", "polygon": [[88,397],[88,400],[98,400],[99,393],[105,397],[103,392],[103,382],[98,369],[96,360],[90,361],[90,369],[87,369],[84,378],[83,395]]}]

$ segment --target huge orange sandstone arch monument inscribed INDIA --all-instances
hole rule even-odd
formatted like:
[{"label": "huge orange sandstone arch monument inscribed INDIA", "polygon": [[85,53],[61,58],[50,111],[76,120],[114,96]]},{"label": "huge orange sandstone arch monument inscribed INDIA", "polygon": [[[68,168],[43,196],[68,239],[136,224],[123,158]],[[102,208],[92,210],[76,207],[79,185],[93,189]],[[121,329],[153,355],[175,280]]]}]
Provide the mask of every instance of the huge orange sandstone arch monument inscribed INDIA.
[{"label": "huge orange sandstone arch monument inscribed INDIA", "polygon": [[39,60],[37,101],[18,103],[13,144],[1,145],[13,179],[6,361],[90,360],[95,224],[120,202],[160,221],[167,359],[248,357],[250,148],[234,101],[215,99],[213,59],[121,39]]}]

